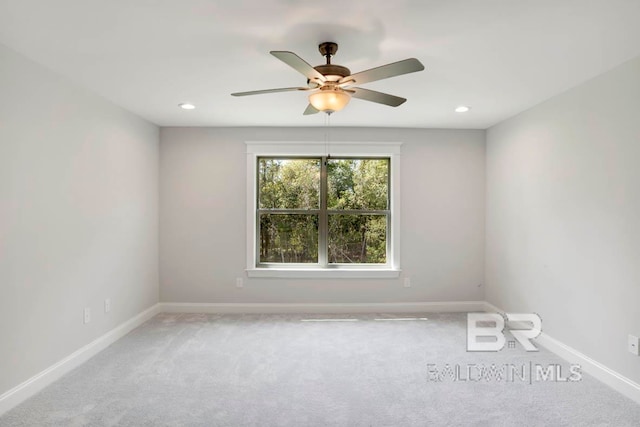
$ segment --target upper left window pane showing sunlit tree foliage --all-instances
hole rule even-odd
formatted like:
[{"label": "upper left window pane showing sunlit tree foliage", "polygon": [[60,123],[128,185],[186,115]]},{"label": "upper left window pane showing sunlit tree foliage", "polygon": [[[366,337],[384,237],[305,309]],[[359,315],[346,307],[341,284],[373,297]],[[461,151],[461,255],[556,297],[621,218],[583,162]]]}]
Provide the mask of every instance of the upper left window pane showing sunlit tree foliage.
[{"label": "upper left window pane showing sunlit tree foliage", "polygon": [[258,160],[260,209],[318,209],[320,159]]}]

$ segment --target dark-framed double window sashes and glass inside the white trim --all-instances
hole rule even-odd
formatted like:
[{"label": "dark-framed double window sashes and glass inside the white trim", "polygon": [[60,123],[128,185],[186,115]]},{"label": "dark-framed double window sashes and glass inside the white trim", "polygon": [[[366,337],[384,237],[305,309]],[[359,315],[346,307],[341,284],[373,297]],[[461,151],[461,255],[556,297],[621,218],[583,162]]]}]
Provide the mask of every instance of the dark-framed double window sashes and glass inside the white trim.
[{"label": "dark-framed double window sashes and glass inside the white trim", "polygon": [[388,157],[259,157],[257,265],[386,265],[389,166]]}]

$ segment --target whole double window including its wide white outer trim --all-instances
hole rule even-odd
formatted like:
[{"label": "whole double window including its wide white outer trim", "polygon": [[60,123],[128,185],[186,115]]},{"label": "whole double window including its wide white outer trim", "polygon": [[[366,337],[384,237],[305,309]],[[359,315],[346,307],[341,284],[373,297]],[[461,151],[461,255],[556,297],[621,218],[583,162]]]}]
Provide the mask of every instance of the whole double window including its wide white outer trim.
[{"label": "whole double window including its wide white outer trim", "polygon": [[250,276],[397,277],[399,144],[247,145]]}]

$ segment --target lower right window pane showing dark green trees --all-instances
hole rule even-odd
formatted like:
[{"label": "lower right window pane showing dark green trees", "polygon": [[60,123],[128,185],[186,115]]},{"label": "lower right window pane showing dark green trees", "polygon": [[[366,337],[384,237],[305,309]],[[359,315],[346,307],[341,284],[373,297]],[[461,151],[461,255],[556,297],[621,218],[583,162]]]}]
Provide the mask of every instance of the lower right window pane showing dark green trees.
[{"label": "lower right window pane showing dark green trees", "polygon": [[329,215],[329,262],[387,262],[386,215]]}]

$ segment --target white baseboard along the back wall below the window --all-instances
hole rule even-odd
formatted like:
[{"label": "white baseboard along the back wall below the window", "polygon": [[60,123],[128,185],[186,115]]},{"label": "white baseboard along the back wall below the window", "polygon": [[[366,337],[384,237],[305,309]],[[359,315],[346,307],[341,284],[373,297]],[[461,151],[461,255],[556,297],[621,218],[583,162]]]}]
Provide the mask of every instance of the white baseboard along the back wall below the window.
[{"label": "white baseboard along the back wall below the window", "polygon": [[484,311],[483,301],[396,303],[160,303],[165,313],[445,313]]}]

